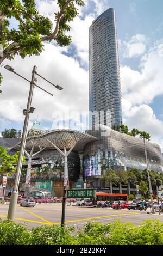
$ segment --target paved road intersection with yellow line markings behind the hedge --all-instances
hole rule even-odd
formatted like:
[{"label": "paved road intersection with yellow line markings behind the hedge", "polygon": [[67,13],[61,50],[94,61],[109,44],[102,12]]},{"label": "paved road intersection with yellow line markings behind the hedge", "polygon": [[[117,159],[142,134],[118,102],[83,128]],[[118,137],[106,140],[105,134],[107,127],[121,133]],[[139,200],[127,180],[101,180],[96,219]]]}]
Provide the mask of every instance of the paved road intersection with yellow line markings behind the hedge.
[{"label": "paved road intersection with yellow line markings behind the hedge", "polygon": [[[27,224],[27,227],[38,227],[40,225],[60,225],[61,221],[61,203],[56,204],[36,204],[33,208],[20,207],[17,205],[15,221],[17,223]],[[7,218],[9,205],[0,205],[0,217]],[[163,214],[147,214],[145,211],[134,210],[114,210],[111,208],[82,208],[76,205],[66,205],[65,224],[82,227],[87,222],[102,222],[104,224],[114,222],[115,220],[131,222],[140,225],[143,220],[159,219],[163,221]]]}]

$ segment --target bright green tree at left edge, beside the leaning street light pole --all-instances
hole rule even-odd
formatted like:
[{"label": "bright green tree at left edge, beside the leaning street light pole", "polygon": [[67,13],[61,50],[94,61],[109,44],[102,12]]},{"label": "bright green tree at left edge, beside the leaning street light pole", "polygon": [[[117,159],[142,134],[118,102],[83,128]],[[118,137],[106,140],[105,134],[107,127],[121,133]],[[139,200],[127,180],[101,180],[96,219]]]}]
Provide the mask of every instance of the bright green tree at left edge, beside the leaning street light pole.
[{"label": "bright green tree at left edge, beside the leaning street light pole", "polygon": [[[8,174],[8,176],[10,176],[13,172],[15,172],[18,155],[18,151],[14,155],[9,155],[4,147],[0,147],[0,173]],[[23,163],[24,162],[25,156],[23,156]]]}]

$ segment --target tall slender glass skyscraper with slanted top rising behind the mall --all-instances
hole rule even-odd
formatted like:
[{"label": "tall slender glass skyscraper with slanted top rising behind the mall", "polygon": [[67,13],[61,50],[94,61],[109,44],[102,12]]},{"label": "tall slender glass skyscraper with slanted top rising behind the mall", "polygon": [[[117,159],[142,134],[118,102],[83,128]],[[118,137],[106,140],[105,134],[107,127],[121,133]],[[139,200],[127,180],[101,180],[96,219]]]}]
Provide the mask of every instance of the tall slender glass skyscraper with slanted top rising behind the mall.
[{"label": "tall slender glass skyscraper with slanted top rising behind the mall", "polygon": [[[115,10],[104,11],[90,27],[89,110],[104,111],[104,125],[122,123],[121,81]],[[91,118],[91,116],[90,116]],[[95,118],[92,124],[96,124]]]}]

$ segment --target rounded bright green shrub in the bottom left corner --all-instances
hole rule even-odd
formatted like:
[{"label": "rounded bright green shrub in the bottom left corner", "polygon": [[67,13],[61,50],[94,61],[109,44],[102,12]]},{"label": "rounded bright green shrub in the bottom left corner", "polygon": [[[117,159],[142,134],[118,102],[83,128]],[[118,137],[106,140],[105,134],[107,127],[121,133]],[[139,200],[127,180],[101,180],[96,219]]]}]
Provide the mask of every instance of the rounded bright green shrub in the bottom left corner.
[{"label": "rounded bright green shrub in the bottom left corner", "polygon": [[29,237],[30,234],[23,225],[0,220],[0,245],[28,245]]}]

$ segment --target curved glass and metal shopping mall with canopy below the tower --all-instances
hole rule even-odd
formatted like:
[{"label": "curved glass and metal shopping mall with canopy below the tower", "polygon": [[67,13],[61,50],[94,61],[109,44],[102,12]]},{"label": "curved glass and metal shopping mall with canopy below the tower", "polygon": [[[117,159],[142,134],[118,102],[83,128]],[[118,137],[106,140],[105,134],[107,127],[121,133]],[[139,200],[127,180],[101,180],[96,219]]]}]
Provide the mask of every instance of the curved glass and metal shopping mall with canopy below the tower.
[{"label": "curved glass and metal shopping mall with canopy below the tower", "polygon": [[[1,138],[0,145],[3,145],[10,154],[20,149],[20,142],[16,139]],[[146,147],[149,169],[162,172],[163,163],[159,145],[146,141]],[[26,163],[22,167],[20,193],[24,192],[27,175],[25,170],[29,167],[29,155],[33,150],[30,160],[30,190],[46,188],[54,191],[55,196],[61,197],[65,162],[61,151],[63,152],[64,149],[66,152],[71,151],[68,155],[68,176],[73,188],[82,188],[86,181],[87,187],[110,192],[109,184],[101,180],[106,169],[146,168],[143,140],[111,130],[108,126],[101,125],[85,133],[67,129],[36,133],[27,137],[24,153]],[[6,194],[12,191],[13,183],[14,177],[9,177]],[[127,189],[127,186],[122,185],[123,193],[127,193]],[[114,187],[113,192],[118,193],[119,188]],[[136,192],[135,187],[131,187],[131,193],[133,192]]]}]

